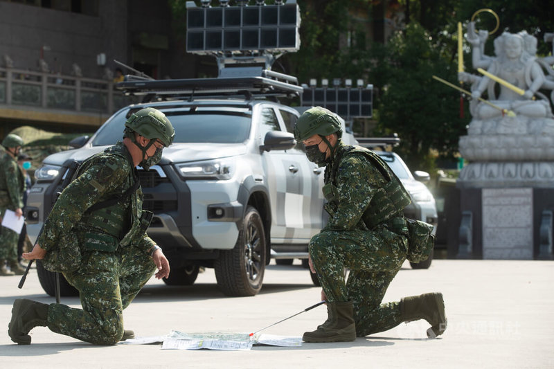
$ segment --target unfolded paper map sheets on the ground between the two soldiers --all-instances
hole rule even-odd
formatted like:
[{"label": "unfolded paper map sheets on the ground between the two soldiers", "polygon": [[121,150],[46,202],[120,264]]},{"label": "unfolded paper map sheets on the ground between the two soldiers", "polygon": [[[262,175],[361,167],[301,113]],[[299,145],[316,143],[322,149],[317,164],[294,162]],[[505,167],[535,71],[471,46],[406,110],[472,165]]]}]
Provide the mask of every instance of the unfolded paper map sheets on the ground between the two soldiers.
[{"label": "unfolded paper map sheets on the ground between the two soldiers", "polygon": [[148,345],[161,343],[163,350],[250,350],[253,345],[271,345],[282,347],[300,347],[301,337],[276,336],[274,334],[248,333],[184,333],[172,330],[166,336],[137,337],[127,339],[121,344],[125,345]]}]

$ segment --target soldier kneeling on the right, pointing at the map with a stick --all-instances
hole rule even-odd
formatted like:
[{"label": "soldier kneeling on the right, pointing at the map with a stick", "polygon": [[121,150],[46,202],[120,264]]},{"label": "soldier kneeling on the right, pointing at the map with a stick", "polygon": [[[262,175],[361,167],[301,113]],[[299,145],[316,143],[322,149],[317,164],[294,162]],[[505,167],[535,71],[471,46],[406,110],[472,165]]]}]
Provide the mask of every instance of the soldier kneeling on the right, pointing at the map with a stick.
[{"label": "soldier kneeling on the right, pointing at the map with a stick", "polygon": [[[396,325],[425,319],[429,337],[446,329],[439,293],[382,303],[408,251],[402,209],[410,204],[400,180],[379,156],[364,147],[344,145],[337,117],[328,109],[308,109],[294,128],[307,158],[325,166],[323,195],[329,222],[310,240],[310,269],[323,287],[328,319],[306,342],[354,341]],[[344,269],[350,269],[348,282]]]}]

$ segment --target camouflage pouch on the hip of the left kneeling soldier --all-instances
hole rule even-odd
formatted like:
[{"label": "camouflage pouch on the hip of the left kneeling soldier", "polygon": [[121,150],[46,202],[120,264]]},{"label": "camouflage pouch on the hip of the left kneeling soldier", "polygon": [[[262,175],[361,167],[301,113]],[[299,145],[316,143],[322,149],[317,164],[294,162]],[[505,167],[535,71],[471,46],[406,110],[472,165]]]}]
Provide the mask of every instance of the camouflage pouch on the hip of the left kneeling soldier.
[{"label": "camouflage pouch on the hip of the left kneeling soldier", "polygon": [[48,271],[66,273],[79,269],[81,264],[81,244],[78,232],[74,229],[60,237],[60,244],[48,250],[42,265]]}]

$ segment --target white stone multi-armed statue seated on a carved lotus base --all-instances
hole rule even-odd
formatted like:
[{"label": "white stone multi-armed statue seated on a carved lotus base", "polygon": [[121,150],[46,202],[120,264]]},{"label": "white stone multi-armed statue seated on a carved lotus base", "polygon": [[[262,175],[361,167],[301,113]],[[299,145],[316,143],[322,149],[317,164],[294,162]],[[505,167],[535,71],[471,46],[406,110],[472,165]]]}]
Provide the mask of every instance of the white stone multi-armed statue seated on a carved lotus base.
[{"label": "white stone multi-armed statue seated on a carved lotus base", "polygon": [[[459,141],[460,153],[470,164],[463,168],[459,182],[483,188],[552,186],[554,57],[537,57],[537,38],[526,31],[503,33],[494,39],[494,55],[485,55],[488,36],[485,30],[476,32],[474,22],[468,24],[472,65],[511,87],[485,73],[458,73],[458,80],[471,84],[472,93],[472,120],[467,136]],[[545,96],[539,90],[553,91]]]}]

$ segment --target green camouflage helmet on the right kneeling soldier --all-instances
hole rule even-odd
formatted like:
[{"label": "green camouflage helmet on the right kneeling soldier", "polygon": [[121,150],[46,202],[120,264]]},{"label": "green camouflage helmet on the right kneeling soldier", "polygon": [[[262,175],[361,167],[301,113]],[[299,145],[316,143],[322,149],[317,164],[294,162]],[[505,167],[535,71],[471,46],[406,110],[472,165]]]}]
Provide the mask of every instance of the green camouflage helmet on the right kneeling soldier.
[{"label": "green camouflage helmet on the right kneeling soldier", "polygon": [[337,132],[339,138],[342,137],[341,123],[339,118],[332,111],[324,107],[312,107],[304,111],[294,125],[294,138],[298,142],[302,142],[319,134],[320,136],[328,136]]}]

